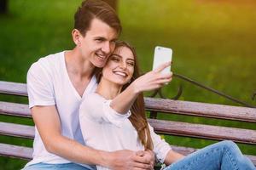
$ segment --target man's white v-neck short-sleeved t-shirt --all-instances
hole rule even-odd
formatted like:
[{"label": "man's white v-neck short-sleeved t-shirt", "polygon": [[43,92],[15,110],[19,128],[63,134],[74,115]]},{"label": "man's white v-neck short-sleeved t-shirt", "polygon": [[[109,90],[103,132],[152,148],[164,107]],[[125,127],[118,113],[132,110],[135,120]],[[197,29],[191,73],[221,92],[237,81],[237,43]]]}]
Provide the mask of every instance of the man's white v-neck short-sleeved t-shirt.
[{"label": "man's white v-neck short-sleeved t-shirt", "polygon": [[[55,105],[61,120],[61,134],[84,144],[79,126],[79,105],[87,94],[95,92],[96,77],[92,77],[81,97],[68,77],[64,52],[61,52],[32,64],[26,82],[29,108],[35,105]],[[33,159],[26,166],[38,162],[58,164],[70,161],[45,150],[38,129],[35,128]]]}]

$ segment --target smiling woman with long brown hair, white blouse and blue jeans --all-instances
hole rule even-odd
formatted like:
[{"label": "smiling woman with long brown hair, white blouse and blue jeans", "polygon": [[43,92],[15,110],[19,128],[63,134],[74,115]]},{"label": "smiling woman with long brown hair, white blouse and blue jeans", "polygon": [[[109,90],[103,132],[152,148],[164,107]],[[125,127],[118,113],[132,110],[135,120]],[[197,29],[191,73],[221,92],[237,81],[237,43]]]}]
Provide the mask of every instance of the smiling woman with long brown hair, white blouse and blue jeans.
[{"label": "smiling woman with long brown hair, white blouse and blue jeans", "polygon": [[[255,168],[230,141],[212,144],[186,157],[173,151],[148,124],[142,93],[130,111],[113,108],[114,100],[139,76],[137,55],[127,43],[117,42],[107,65],[97,75],[96,93],[89,94],[79,110],[81,130],[88,146],[108,151],[153,150],[158,161],[172,164],[166,169]],[[97,169],[108,168],[97,166]]]}]

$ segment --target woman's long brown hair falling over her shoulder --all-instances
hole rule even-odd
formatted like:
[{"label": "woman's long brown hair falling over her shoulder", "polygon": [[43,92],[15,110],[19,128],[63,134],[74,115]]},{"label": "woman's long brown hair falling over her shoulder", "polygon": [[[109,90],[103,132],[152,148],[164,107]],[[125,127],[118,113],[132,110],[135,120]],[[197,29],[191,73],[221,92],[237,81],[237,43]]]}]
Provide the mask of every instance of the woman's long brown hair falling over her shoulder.
[{"label": "woman's long brown hair falling over her shoulder", "polygon": [[[128,82],[127,84],[125,84],[121,92],[124,91],[125,88],[127,88],[135,79],[137,79],[137,77],[140,76],[135,48],[132,48],[131,45],[129,45],[127,42],[116,42],[114,51],[119,50],[119,48],[122,48],[122,47],[131,49],[131,52],[134,56],[135,65],[134,65],[134,72],[131,78],[131,82]],[[100,72],[101,71],[96,71],[96,77],[98,82],[100,82],[100,79],[102,77]],[[138,137],[141,140],[142,144],[144,145],[145,150],[153,150],[154,145],[150,135],[148,121],[145,113],[143,93],[137,96],[137,99],[131,106],[130,111],[131,111],[131,116],[129,117],[129,120],[133,125],[133,127],[136,128]]]}]

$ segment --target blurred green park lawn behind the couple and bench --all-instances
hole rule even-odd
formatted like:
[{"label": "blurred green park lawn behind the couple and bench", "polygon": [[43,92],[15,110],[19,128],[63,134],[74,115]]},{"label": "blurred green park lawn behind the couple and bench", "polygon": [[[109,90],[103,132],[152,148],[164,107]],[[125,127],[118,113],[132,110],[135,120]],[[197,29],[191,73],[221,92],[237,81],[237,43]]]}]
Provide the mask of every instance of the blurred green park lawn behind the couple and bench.
[{"label": "blurred green park lawn behind the couple and bench", "polygon": [[[81,0],[9,0],[0,15],[0,80],[26,82],[26,71],[47,54],[74,47],[73,14]],[[154,47],[173,50],[174,73],[182,74],[236,99],[256,105],[256,2],[253,0],[119,0],[117,12],[123,26],[121,39],[131,42],[143,72],[152,69]],[[172,98],[183,85],[182,100],[238,105],[174,77],[163,88]],[[149,94],[146,94],[149,95]],[[27,103],[27,99],[1,95],[0,99]],[[256,99],[255,99],[256,100]],[[160,119],[223,124],[255,129],[253,123],[219,121],[191,116]],[[32,124],[26,119],[0,116],[3,122]],[[216,141],[163,136],[170,144],[201,148]],[[0,136],[1,143],[32,146],[32,141]],[[239,144],[245,154],[256,146]],[[0,156],[0,169],[20,169],[26,161]]]}]

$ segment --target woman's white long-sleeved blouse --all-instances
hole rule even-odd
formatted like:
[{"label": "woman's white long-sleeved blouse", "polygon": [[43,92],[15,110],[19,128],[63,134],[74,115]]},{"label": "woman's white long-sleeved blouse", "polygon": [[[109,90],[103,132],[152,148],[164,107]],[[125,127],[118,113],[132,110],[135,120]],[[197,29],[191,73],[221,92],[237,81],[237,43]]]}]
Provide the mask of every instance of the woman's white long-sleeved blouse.
[{"label": "woman's white long-sleeved blouse", "polygon": [[[125,115],[119,114],[110,107],[110,103],[111,100],[104,99],[96,93],[84,98],[79,110],[79,122],[85,144],[106,151],[144,150],[143,144],[138,139],[137,130],[128,119],[131,111]],[[164,139],[160,139],[150,125],[149,130],[154,144],[154,154],[163,162],[171,146]],[[96,167],[98,170],[108,169]]]}]

